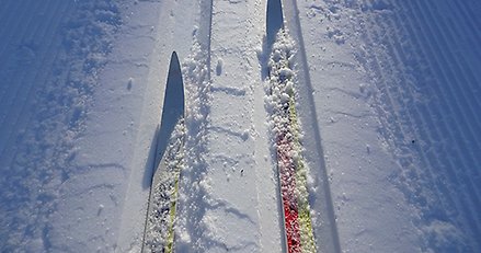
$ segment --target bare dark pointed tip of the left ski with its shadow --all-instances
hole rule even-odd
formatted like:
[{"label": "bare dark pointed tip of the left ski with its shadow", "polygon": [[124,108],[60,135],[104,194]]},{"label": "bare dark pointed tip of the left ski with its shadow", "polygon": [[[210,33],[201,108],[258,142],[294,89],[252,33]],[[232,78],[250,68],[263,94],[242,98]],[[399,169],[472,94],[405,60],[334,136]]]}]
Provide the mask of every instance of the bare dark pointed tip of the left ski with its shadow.
[{"label": "bare dark pointed tip of the left ski with its shadow", "polygon": [[156,135],[153,136],[153,141],[151,143],[148,158],[149,163],[150,161],[153,161],[152,170],[146,170],[144,176],[144,186],[150,187],[153,175],[156,174],[159,163],[162,160],[175,125],[183,116],[184,82],[182,80],[182,69],[179,62],[177,54],[173,51],[169,66],[169,76],[167,78],[160,128],[158,128]]}]

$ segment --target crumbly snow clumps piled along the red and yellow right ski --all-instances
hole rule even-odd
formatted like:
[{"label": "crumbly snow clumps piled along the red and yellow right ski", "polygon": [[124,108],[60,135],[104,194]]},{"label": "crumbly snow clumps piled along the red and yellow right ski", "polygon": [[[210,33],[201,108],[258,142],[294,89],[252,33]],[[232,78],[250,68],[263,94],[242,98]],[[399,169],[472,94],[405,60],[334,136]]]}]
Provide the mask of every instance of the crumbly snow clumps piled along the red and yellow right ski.
[{"label": "crumbly snow clumps piled along the red and yellow right ski", "polygon": [[[300,240],[297,243],[301,245],[304,251],[316,252],[308,189],[311,179],[302,157],[300,142],[302,135],[295,108],[296,89],[294,82],[296,73],[293,70],[295,53],[295,42],[290,38],[288,31],[280,30],[268,61],[270,74],[265,88],[267,93],[265,101],[270,115],[268,125],[273,133],[273,156],[277,157],[283,206],[284,208],[286,205],[296,207],[296,211],[298,211],[298,218],[294,223],[285,223],[285,226],[297,227],[300,238],[291,239],[287,228],[286,235],[288,240]],[[295,182],[295,184],[290,182]],[[285,216],[288,215],[285,214]],[[286,219],[286,222],[293,221]]]}]

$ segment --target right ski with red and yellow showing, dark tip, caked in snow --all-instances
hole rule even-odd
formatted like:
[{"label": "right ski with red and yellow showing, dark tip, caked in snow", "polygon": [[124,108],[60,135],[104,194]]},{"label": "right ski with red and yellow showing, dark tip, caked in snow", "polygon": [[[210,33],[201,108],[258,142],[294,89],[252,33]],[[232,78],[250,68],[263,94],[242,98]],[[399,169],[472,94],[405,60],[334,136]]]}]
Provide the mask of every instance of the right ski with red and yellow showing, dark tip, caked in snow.
[{"label": "right ski with red and yellow showing, dark tip, caked in snow", "polygon": [[[268,104],[275,138],[277,169],[283,207],[287,252],[316,252],[307,191],[307,169],[299,141],[295,103],[295,43],[280,22],[272,18],[280,12],[280,0],[267,2],[267,43],[272,48],[268,60]],[[273,35],[274,33],[274,35]],[[271,37],[275,36],[272,45]],[[271,39],[270,39],[271,38]]]}]

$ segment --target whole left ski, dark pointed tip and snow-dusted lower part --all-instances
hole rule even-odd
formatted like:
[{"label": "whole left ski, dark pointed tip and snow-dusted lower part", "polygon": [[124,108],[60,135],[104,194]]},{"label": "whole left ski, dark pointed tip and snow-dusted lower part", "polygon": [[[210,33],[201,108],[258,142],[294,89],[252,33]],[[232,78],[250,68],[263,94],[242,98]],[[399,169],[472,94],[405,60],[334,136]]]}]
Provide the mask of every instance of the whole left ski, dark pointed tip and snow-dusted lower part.
[{"label": "whole left ski, dark pointed tip and snow-dusted lower part", "polygon": [[172,54],[161,125],[158,133],[152,184],[142,252],[173,252],[179,180],[184,166],[184,87],[175,51]]}]

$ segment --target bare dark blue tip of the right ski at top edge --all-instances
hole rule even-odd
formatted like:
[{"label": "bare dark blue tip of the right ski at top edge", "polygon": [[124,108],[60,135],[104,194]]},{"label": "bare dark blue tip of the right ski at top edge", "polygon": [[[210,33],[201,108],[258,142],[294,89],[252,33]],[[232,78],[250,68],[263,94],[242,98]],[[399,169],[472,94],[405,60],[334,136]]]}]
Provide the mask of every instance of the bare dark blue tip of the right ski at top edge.
[{"label": "bare dark blue tip of the right ski at top edge", "polygon": [[265,21],[265,37],[262,45],[262,55],[259,57],[262,66],[262,79],[268,76],[268,58],[272,46],[276,41],[277,32],[284,27],[283,5],[280,0],[267,0],[267,13]]}]

